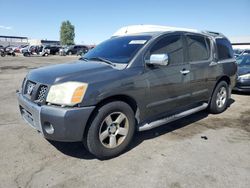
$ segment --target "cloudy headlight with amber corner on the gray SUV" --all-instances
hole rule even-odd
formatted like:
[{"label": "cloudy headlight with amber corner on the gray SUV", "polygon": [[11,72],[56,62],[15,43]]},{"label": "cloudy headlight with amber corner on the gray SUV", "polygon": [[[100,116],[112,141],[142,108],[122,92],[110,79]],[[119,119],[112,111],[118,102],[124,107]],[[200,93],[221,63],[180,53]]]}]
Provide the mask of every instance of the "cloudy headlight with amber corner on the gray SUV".
[{"label": "cloudy headlight with amber corner on the gray SUV", "polygon": [[74,106],[82,101],[88,84],[65,82],[50,87],[46,101],[52,104]]}]

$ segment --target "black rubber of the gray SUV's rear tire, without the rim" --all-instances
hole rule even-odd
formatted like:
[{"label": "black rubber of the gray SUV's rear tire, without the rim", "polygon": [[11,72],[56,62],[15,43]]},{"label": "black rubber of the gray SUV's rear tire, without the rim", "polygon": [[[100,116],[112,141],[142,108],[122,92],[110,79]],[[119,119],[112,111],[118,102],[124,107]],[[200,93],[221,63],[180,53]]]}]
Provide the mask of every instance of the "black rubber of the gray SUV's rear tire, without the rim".
[{"label": "black rubber of the gray SUV's rear tire, without the rim", "polygon": [[[217,99],[217,94],[218,94],[218,92],[220,91],[220,89],[222,87],[226,88],[227,98],[226,98],[226,102],[223,105],[223,107],[219,108],[218,105],[217,105],[217,103],[216,103],[216,99]],[[212,96],[212,99],[211,99],[211,103],[210,103],[210,112],[213,113],[213,114],[218,114],[218,113],[221,113],[221,112],[225,111],[226,108],[227,108],[228,98],[229,98],[229,87],[228,87],[228,84],[225,81],[221,81],[221,82],[219,82],[217,84],[217,86],[216,86],[216,88],[214,90],[214,93],[213,93],[213,96]]]}]

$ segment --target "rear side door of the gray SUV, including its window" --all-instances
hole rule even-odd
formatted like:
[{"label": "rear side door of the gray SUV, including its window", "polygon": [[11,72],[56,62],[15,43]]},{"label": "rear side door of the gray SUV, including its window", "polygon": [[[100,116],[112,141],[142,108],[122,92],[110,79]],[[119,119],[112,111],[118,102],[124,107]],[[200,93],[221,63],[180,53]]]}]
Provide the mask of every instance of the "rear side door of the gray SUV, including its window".
[{"label": "rear side door of the gray SUV, including its window", "polygon": [[193,103],[209,98],[208,78],[212,62],[211,40],[199,34],[186,34],[188,61],[190,64],[190,90]]}]

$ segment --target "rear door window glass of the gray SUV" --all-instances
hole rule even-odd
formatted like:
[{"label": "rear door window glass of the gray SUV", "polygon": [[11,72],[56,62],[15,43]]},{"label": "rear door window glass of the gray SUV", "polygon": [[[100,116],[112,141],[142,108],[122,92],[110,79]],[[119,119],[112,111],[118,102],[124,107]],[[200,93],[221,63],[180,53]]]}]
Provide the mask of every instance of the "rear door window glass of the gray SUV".
[{"label": "rear door window glass of the gray SUV", "polygon": [[189,61],[203,61],[210,57],[210,40],[203,36],[187,35]]}]

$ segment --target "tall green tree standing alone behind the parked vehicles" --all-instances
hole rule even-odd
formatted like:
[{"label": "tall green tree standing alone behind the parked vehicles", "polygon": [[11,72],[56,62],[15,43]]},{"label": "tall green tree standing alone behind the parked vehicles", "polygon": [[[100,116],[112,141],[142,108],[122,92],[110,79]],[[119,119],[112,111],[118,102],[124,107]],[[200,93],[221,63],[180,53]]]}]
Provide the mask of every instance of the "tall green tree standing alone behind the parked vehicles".
[{"label": "tall green tree standing alone behind the parked vehicles", "polygon": [[75,39],[75,26],[70,21],[63,21],[60,30],[60,41],[62,45],[72,45]]}]

